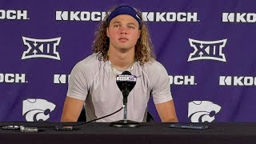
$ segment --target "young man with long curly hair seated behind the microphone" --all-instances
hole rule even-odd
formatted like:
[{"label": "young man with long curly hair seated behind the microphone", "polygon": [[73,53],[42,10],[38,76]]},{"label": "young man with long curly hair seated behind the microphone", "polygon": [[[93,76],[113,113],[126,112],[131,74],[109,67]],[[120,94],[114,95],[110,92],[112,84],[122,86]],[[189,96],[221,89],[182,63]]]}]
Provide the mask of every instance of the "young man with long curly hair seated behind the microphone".
[{"label": "young man with long curly hair seated behind the microphone", "polygon": [[[117,74],[137,76],[127,103],[127,118],[146,122],[147,102],[153,96],[162,122],[178,122],[169,77],[156,60],[146,24],[138,10],[118,6],[106,16],[94,40],[94,54],[78,62],[70,74],[62,122],[76,122],[85,104],[86,119],[100,118],[122,107]],[[97,122],[123,119],[123,110]]]}]

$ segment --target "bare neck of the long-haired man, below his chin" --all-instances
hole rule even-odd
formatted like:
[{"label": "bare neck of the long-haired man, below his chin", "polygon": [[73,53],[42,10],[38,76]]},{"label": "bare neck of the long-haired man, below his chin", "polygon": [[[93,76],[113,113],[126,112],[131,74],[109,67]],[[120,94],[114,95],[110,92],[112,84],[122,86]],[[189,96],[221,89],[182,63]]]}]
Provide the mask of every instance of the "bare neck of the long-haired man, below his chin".
[{"label": "bare neck of the long-haired man, below his chin", "polygon": [[134,49],[126,52],[110,49],[109,60],[114,68],[118,70],[126,70],[126,68],[134,62]]}]

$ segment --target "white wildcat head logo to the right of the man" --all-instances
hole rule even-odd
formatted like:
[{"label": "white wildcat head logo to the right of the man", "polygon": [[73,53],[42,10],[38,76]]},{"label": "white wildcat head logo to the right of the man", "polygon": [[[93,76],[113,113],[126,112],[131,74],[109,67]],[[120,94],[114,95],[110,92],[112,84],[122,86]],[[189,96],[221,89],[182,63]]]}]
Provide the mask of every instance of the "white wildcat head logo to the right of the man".
[{"label": "white wildcat head logo to the right of the man", "polygon": [[189,102],[188,118],[191,122],[213,122],[221,106],[209,101]]}]

